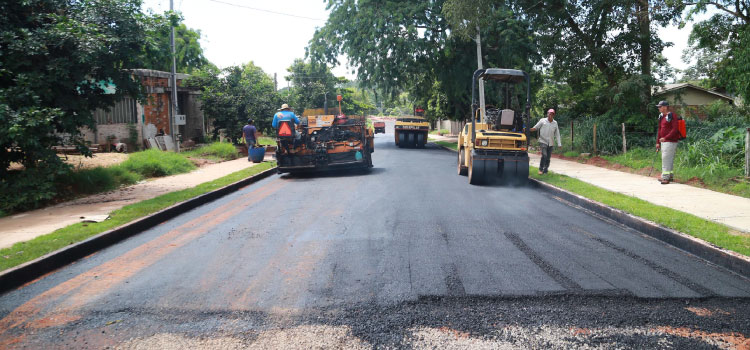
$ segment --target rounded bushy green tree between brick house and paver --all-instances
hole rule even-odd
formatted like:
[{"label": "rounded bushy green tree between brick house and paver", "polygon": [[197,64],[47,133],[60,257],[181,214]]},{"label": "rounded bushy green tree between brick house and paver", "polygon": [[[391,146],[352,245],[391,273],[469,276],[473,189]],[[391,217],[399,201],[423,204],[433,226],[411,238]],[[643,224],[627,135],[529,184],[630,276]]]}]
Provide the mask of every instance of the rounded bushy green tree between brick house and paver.
[{"label": "rounded bushy green tree between brick house and paver", "polygon": [[252,62],[223,70],[207,67],[187,84],[203,91],[201,108],[213,121],[214,137],[224,130],[234,143],[239,143],[242,126],[249,118],[255,120],[258,130],[270,129],[281,103],[273,79]]}]

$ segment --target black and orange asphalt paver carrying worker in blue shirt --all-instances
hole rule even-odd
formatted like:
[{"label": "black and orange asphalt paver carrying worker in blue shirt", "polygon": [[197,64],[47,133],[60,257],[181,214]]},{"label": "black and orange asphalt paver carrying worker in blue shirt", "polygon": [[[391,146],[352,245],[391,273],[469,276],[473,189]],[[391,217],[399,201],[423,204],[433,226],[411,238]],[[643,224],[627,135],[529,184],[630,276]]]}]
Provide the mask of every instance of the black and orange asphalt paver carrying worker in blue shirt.
[{"label": "black and orange asphalt paver carrying worker in blue shirt", "polygon": [[307,115],[300,125],[284,121],[277,130],[279,173],[371,168],[373,131],[363,116]]}]

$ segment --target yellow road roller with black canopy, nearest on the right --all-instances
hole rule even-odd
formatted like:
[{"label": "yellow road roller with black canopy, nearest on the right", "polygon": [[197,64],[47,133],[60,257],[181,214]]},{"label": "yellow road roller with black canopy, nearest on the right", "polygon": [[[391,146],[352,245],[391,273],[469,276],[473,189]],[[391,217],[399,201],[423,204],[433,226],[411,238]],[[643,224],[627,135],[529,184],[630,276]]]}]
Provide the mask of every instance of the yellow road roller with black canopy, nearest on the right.
[{"label": "yellow road roller with black canopy, nearest on the right", "polygon": [[[477,84],[483,80],[499,96],[487,96],[482,113]],[[525,86],[523,86],[525,84]],[[529,177],[528,130],[531,113],[529,75],[504,68],[478,69],[471,84],[471,123],[458,137],[458,174],[469,183],[525,184]],[[525,106],[520,106],[525,90]],[[486,90],[485,90],[486,91]],[[484,118],[482,118],[484,116]]]}]

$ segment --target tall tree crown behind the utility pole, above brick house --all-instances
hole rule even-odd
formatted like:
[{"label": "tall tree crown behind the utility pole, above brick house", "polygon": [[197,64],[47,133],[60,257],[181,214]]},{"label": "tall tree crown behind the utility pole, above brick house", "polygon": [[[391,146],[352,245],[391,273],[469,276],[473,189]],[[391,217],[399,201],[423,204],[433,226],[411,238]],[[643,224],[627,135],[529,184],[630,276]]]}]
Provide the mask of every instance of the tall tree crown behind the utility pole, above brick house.
[{"label": "tall tree crown behind the utility pole, above brick house", "polygon": [[171,30],[175,27],[176,70],[191,74],[211,63],[203,56],[200,30],[190,29],[182,22],[178,13],[152,14],[148,18],[149,30],[141,56],[142,67],[169,72],[172,70]]}]

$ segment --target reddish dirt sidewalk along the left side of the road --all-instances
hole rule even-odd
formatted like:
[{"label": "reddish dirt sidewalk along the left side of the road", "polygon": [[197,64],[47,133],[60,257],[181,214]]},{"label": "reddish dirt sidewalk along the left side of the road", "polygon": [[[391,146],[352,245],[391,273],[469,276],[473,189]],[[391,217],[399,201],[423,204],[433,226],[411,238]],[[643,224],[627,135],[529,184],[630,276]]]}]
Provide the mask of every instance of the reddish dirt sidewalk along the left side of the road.
[{"label": "reddish dirt sidewalk along the left side of the road", "polygon": [[254,165],[255,163],[248,162],[247,158],[210,164],[189,173],[156,178],[115,191],[0,218],[0,248],[51,233],[81,222],[82,218],[106,217],[112,211],[128,204],[195,187]]}]

